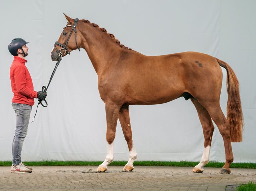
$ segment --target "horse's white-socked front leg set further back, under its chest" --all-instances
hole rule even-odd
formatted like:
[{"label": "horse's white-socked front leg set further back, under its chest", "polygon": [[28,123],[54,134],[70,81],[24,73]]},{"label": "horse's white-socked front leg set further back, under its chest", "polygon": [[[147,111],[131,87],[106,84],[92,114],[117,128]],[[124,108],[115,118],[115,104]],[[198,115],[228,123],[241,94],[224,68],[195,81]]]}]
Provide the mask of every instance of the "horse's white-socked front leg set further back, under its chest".
[{"label": "horse's white-socked front leg set further back, under its chest", "polygon": [[124,166],[122,171],[132,171],[133,170],[133,162],[137,158],[137,153],[133,146],[133,141],[132,141],[132,129],[131,129],[131,124],[130,124],[129,105],[121,107],[121,109],[119,111],[118,119],[120,121],[122,130],[124,133],[124,138],[127,142],[129,153],[130,153],[129,161]]}]

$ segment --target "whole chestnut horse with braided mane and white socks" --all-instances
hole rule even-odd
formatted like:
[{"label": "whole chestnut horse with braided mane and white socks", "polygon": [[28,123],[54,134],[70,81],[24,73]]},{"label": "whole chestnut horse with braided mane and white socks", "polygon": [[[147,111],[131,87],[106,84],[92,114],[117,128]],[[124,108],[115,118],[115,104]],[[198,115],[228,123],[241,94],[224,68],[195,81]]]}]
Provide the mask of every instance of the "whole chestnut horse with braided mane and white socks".
[{"label": "whole chestnut horse with braided mane and white socks", "polygon": [[[106,110],[108,147],[106,159],[97,171],[106,171],[114,159],[113,141],[118,119],[129,148],[129,160],[122,170],[134,168],[137,153],[132,140],[129,105],[160,104],[183,96],[195,105],[205,139],[202,159],[192,172],[203,172],[209,162],[214,131],[212,120],[223,137],[226,154],[225,165],[219,173],[231,172],[229,167],[234,158],[231,142],[242,141],[243,114],[239,83],[227,63],[198,52],[145,56],[121,45],[113,34],[97,24],[65,17],[68,24],[54,44],[51,59],[56,61],[83,48],[98,75],[98,89]],[[221,67],[227,70],[227,119],[220,107]]]}]

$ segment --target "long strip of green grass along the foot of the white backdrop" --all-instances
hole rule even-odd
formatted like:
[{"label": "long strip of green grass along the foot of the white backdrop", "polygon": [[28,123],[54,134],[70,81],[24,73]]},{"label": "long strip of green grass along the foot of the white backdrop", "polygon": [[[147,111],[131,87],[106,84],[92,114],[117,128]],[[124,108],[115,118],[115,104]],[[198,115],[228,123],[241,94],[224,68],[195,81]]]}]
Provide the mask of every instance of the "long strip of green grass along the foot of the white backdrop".
[{"label": "long strip of green grass along the foot of the white backdrop", "polygon": [[[98,166],[103,161],[24,161],[27,166]],[[127,161],[113,161],[110,163],[112,166],[124,166]],[[178,166],[178,167],[194,167],[199,162],[189,161],[135,161],[134,166]],[[0,161],[0,166],[11,166],[12,161]],[[222,168],[224,162],[209,162],[205,167],[217,167]],[[251,168],[256,169],[256,163],[231,163],[230,168]]]}]

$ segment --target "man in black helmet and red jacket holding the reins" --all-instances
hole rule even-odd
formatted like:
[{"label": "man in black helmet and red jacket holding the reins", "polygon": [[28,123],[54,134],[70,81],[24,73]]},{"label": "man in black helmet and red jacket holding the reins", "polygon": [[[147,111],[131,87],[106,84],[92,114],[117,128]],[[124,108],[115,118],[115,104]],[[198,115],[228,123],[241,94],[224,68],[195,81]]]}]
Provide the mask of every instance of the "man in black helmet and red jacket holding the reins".
[{"label": "man in black helmet and red jacket holding the reins", "polygon": [[27,135],[28,123],[34,98],[44,100],[46,94],[34,91],[31,76],[26,67],[25,57],[28,47],[24,39],[15,38],[9,45],[9,52],[14,56],[10,68],[11,88],[13,92],[12,107],[16,114],[16,130],[12,142],[11,173],[30,173],[32,168],[26,167],[21,162],[23,141]]}]

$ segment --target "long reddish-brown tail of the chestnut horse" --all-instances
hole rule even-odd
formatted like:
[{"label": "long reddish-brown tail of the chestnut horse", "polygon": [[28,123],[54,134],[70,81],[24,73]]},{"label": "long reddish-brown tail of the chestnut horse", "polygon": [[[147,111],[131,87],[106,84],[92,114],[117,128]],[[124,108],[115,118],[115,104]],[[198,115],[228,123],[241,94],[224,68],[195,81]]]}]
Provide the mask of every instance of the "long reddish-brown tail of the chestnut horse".
[{"label": "long reddish-brown tail of the chestnut horse", "polygon": [[242,141],[244,127],[243,112],[239,93],[239,82],[232,68],[222,60],[216,58],[219,65],[227,70],[227,120],[230,124],[231,142]]}]

